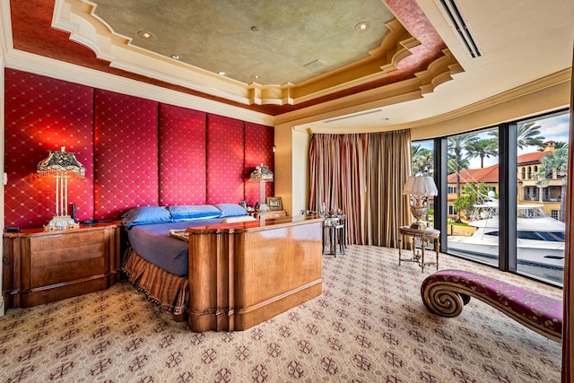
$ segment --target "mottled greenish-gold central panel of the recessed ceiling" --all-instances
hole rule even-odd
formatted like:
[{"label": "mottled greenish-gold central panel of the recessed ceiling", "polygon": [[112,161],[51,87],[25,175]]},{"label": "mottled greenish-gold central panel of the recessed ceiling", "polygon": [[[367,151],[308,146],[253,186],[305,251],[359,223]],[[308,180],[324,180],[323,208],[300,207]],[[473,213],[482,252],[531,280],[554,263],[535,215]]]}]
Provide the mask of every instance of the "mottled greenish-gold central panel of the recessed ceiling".
[{"label": "mottled greenish-gold central panel of the recessed ceiling", "polygon": [[[241,83],[301,83],[368,58],[394,19],[380,0],[93,3],[93,13],[131,45]],[[355,28],[363,22],[367,29]]]}]

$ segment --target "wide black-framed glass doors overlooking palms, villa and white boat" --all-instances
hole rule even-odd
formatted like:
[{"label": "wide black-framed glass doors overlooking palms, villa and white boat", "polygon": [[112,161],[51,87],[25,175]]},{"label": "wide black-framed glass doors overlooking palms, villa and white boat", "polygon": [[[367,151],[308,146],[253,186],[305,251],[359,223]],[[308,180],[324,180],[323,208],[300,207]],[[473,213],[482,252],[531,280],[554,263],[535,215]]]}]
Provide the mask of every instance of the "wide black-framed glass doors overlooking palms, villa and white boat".
[{"label": "wide black-framed glass doors overlooking palms, villa and white boat", "polygon": [[435,198],[443,251],[561,286],[569,118],[561,111],[434,140],[439,194],[448,193]]}]

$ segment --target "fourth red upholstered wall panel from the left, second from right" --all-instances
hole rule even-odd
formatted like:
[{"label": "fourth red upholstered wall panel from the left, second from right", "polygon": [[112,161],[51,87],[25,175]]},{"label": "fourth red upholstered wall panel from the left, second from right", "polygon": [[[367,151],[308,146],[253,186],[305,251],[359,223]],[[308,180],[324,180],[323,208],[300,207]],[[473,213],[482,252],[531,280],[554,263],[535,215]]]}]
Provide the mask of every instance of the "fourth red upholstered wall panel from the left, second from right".
[{"label": "fourth red upholstered wall panel from the left, second from right", "polygon": [[239,204],[245,198],[243,121],[207,117],[207,203]]}]

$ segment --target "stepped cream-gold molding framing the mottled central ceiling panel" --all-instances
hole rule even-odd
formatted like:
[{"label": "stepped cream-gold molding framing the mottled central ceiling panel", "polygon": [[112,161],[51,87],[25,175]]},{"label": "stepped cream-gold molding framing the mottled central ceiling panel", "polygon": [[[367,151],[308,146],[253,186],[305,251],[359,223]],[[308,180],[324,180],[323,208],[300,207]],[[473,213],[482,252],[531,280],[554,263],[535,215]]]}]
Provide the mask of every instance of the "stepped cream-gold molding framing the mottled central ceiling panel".
[{"label": "stepped cream-gold molding framing the mottled central ceiling panel", "polygon": [[[96,15],[96,6],[97,4],[89,0],[57,0],[52,26],[69,32],[70,40],[90,48],[96,57],[109,62],[110,67],[246,106],[296,106],[366,83],[381,81],[396,71],[404,58],[413,54],[413,48],[420,46],[420,42],[395,19],[386,23],[389,32],[382,39],[380,46],[367,52],[367,57],[358,62],[301,83],[240,83],[171,57],[135,47],[131,44],[131,39],[116,33]],[[423,91],[432,91],[436,84],[448,79],[448,76],[443,76],[442,79],[435,80],[431,74],[430,77],[422,79]],[[388,84],[381,85],[387,86]],[[405,84],[404,91],[410,92],[408,84]]]}]

